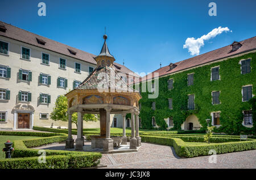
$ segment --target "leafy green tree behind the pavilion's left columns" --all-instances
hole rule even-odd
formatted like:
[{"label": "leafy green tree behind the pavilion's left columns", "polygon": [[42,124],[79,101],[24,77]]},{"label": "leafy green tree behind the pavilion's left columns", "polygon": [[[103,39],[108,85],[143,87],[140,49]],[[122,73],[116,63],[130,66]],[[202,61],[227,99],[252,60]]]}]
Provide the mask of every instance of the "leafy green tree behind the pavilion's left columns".
[{"label": "leafy green tree behind the pavilion's left columns", "polygon": [[[55,102],[55,107],[53,108],[50,118],[54,121],[68,121],[68,98],[61,95],[57,98]],[[84,114],[82,117],[83,121],[93,121],[97,122],[99,119],[98,115],[94,114]],[[75,123],[77,128],[77,113],[72,114],[72,122]]]}]

